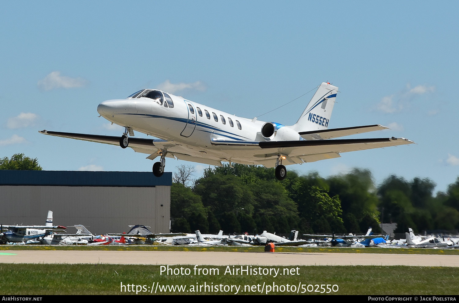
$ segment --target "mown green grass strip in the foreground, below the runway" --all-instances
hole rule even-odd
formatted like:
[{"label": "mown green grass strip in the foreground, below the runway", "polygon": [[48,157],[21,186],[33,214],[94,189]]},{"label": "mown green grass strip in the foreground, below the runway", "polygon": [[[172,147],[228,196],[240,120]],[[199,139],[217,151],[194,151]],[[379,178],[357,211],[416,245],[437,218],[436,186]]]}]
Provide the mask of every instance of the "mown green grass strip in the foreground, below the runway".
[{"label": "mown green grass strip in the foreground, below the runway", "polygon": [[[240,286],[238,294],[320,294],[308,292],[308,285],[337,285],[339,295],[457,295],[459,268],[410,266],[262,266],[267,269],[293,269],[294,275],[229,275],[226,266],[199,266],[218,269],[219,274],[194,274],[191,265],[174,265],[173,269],[190,269],[190,274],[160,274],[159,265],[113,264],[3,264],[0,263],[1,295],[115,295],[151,294],[233,294],[217,291],[220,285]],[[229,266],[232,269],[232,266]],[[241,266],[235,266],[241,268]],[[245,266],[244,266],[245,268]],[[255,266],[252,266],[255,268]],[[298,272],[298,274],[296,274]],[[215,272],[216,273],[216,272]],[[122,292],[121,283],[125,286]],[[159,283],[158,288],[156,288]],[[134,286],[134,292],[128,292]],[[203,285],[207,287],[204,291]],[[263,287],[263,292],[262,286]],[[136,286],[140,287],[137,288]],[[159,291],[161,286],[185,286],[182,291]],[[280,287],[275,291],[273,285]],[[290,287],[287,288],[287,285]],[[298,286],[300,287],[298,288]],[[145,287],[143,287],[145,286]],[[152,287],[153,286],[153,287]],[[253,287],[255,286],[255,287]],[[294,287],[292,287],[294,286]],[[191,288],[193,287],[193,288]],[[201,287],[201,290],[200,290]],[[253,288],[252,288],[253,287]],[[326,286],[324,286],[326,289]],[[197,289],[196,289],[197,288]],[[284,288],[284,289],[283,289]],[[331,288],[331,286],[330,286]],[[250,290],[249,290],[250,289]],[[289,291],[287,291],[287,289]],[[292,292],[292,289],[295,291]],[[336,286],[334,287],[336,290]],[[146,290],[146,292],[144,292]],[[282,291],[283,290],[283,291]],[[316,286],[309,286],[316,290]],[[320,286],[319,286],[320,291]],[[155,291],[153,290],[153,293]]]}]

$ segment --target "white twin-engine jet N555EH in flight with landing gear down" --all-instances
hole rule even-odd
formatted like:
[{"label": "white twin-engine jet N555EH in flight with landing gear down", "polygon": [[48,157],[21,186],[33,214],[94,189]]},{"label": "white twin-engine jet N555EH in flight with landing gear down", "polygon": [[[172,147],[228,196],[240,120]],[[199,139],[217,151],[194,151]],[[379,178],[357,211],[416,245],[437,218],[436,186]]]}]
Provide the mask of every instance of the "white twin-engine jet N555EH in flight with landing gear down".
[{"label": "white twin-engine jet N555EH in flight with landing gear down", "polygon": [[[405,138],[334,139],[367,131],[387,129],[369,125],[328,129],[338,87],[322,83],[297,123],[246,119],[210,108],[165,91],[145,89],[126,99],[107,100],[97,111],[105,119],[124,126],[122,136],[102,136],[59,131],[46,135],[128,146],[160,160],[153,173],[164,172],[165,158],[221,166],[222,162],[275,167],[279,180],[286,177],[285,165],[341,157],[341,153],[414,143]],[[140,131],[160,139],[134,137]]]}]

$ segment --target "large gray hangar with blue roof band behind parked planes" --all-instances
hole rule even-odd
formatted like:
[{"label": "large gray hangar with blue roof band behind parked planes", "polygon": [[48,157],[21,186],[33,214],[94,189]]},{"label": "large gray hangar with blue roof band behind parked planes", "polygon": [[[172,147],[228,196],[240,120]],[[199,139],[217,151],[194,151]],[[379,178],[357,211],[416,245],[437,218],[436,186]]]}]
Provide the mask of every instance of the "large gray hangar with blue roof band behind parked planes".
[{"label": "large gray hangar with blue roof band behind parked planes", "polygon": [[[168,233],[172,173],[1,171],[0,223],[83,224],[93,234],[122,233],[128,225]],[[68,233],[74,233],[73,228]]]}]

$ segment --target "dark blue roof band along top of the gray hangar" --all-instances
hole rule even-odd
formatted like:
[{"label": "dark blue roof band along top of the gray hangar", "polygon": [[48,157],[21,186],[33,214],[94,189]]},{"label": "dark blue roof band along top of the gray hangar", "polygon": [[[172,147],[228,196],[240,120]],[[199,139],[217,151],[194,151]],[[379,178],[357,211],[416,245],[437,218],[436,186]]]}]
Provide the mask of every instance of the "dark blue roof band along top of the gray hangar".
[{"label": "dark blue roof band along top of the gray hangar", "polygon": [[171,186],[172,172],[155,177],[152,172],[73,172],[0,170],[0,185],[42,186]]}]

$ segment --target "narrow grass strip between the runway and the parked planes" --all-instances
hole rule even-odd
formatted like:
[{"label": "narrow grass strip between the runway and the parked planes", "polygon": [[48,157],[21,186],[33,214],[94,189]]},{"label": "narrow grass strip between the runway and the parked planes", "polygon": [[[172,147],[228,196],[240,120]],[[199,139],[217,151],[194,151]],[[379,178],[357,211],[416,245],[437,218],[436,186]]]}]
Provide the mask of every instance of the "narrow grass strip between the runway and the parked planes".
[{"label": "narrow grass strip between the runway and the parked planes", "polygon": [[[0,245],[1,251],[8,250],[102,250],[102,251],[161,251],[161,252],[264,252],[264,246],[154,246],[154,245]],[[346,252],[346,253],[391,253],[419,255],[459,255],[457,249],[427,249],[427,248],[351,248],[351,247],[295,247],[276,246],[276,252]]]}]

